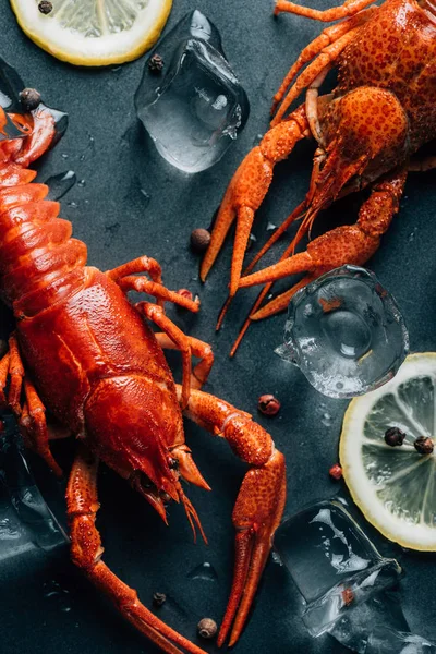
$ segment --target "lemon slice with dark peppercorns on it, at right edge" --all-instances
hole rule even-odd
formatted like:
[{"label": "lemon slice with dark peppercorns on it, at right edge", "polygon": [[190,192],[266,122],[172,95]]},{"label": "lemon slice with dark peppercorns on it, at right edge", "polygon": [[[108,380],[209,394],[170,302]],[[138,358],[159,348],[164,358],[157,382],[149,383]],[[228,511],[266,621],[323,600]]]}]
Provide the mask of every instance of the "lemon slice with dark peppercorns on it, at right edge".
[{"label": "lemon slice with dark peppercorns on it, at right edge", "polygon": [[[407,434],[402,446],[385,443],[389,427]],[[419,436],[436,436],[435,352],[411,354],[391,382],[353,399],[340,438],[343,476],[366,520],[403,547],[434,552],[436,449],[420,455]]]}]

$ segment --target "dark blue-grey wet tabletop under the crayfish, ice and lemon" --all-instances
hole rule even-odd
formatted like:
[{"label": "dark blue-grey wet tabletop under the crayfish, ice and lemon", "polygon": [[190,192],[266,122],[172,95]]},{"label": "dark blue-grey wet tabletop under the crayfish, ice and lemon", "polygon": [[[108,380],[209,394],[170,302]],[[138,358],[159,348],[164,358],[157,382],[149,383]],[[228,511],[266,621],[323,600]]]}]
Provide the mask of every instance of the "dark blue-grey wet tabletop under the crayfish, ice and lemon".
[{"label": "dark blue-grey wet tabletop under the crayfish, ice and lemon", "polygon": [[[326,8],[328,2],[317,0],[316,5]],[[169,26],[194,7],[187,0],[175,0]],[[197,278],[198,259],[190,252],[189,235],[192,229],[210,223],[237,165],[257,134],[267,129],[274,92],[299,51],[322,27],[289,15],[274,20],[271,3],[264,0],[202,0],[197,7],[220,29],[225,50],[249,94],[252,111],[244,133],[225,158],[215,168],[192,177],[167,165],[143,137],[133,95],[144,60],[106,70],[65,65],[23,36],[8,2],[0,5],[0,55],[17,68],[26,84],[40,89],[47,102],[70,114],[66,135],[38,169],[41,180],[68,169],[84,180],[64,197],[62,216],[72,220],[75,235],[86,242],[89,262],[108,269],[142,254],[159,259],[169,288],[185,287],[201,295],[202,311],[197,316],[172,308],[169,313],[183,329],[214,347],[216,364],[207,390],[255,415],[259,395],[272,392],[281,400],[282,410],[277,417],[256,417],[287,455],[287,512],[292,513],[304,504],[336,492],[328,469],[338,457],[347,402],[323,398],[296,368],[274,355],[272,350],[281,340],[283,316],[253,327],[235,359],[229,359],[230,346],[255,290],[241,293],[225,328],[216,335],[215,322],[228,282],[230,243],[202,286]],[[258,243],[268,235],[268,221],[278,225],[303,197],[312,154],[312,145],[300,145],[289,162],[277,167],[271,191],[254,227]],[[410,177],[400,215],[371,262],[404,313],[412,349],[422,351],[436,350],[435,181],[434,172]],[[339,205],[318,220],[317,230],[327,229],[337,220],[352,222],[356,207],[355,201]],[[283,247],[283,242],[279,247]],[[170,359],[175,375],[180,375],[178,356]],[[220,620],[226,606],[233,560],[230,517],[245,467],[225,443],[196,426],[186,423],[186,435],[213,488],[209,494],[189,489],[209,546],[193,544],[180,507],[171,507],[170,525],[165,526],[150,507],[109,471],[100,475],[98,525],[106,562],[138,590],[146,605],[152,605],[155,591],[167,593],[169,601],[160,609],[161,617],[195,639],[198,619],[210,616]],[[399,557],[407,570],[401,595],[411,628],[434,638],[434,558],[403,553],[375,537],[382,552]],[[205,561],[215,572],[209,569],[204,573],[203,569],[195,573]],[[66,554],[59,559],[41,553],[10,559],[0,567],[0,583],[2,654],[156,652],[84,580]],[[68,591],[66,607],[66,593],[47,592],[53,583]],[[300,622],[299,611],[301,604],[286,572],[269,562],[252,619],[235,651],[346,651],[328,635],[312,640]],[[217,651],[214,645],[204,646]]]}]

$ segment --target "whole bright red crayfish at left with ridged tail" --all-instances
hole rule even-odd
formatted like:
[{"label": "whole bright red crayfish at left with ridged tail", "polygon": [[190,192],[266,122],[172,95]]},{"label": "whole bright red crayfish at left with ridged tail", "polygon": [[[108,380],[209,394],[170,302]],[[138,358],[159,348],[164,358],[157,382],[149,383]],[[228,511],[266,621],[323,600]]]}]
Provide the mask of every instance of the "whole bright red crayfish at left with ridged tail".
[{"label": "whole bright red crayfish at left with ridged tail", "polygon": [[[86,245],[71,238],[71,222],[58,217],[59,203],[46,199],[45,184],[31,183],[36,173],[28,166],[52,143],[53,119],[35,110],[23,121],[29,135],[0,143],[0,292],[16,319],[0,362],[2,403],[17,416],[25,444],[55,474],[61,470],[49,441],[61,434],[48,416],[64,435],[75,436],[66,491],[73,561],[168,654],[205,653],[150,613],[104,564],[95,526],[98,461],[124,477],[165,521],[164,502],[181,502],[194,533],[196,525],[204,536],[181,481],[209,487],[185,445],[182,411],[229,443],[250,464],[233,511],[235,569],[218,638],[222,644],[231,630],[233,644],[283,511],[284,458],[247,413],[199,390],[213,364],[211,350],[185,336],[164,311],[165,302],[193,312],[198,303],[169,291],[156,261],[143,256],[108,272],[86,266]],[[126,299],[131,290],[157,302],[133,306]],[[155,334],[144,318],[161,332]],[[162,348],[182,352],[180,386]],[[201,359],[194,368],[192,355]]]}]

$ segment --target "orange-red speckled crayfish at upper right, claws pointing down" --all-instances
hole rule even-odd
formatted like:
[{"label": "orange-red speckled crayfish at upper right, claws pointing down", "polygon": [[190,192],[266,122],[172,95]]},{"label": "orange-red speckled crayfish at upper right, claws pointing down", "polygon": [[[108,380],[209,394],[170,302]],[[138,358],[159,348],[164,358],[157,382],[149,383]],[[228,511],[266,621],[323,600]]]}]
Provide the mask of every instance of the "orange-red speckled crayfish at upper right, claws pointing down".
[{"label": "orange-red speckled crayfish at upper right, claws pointing down", "polygon": [[[275,96],[271,129],[238,168],[222,201],[210,245],[201,267],[206,279],[223,240],[237,219],[230,293],[218,328],[238,289],[265,283],[233,346],[235,352],[251,320],[287,307],[292,295],[324,272],[343,264],[364,264],[398,211],[408,172],[436,167],[436,157],[414,157],[436,137],[436,3],[434,0],[346,0],[318,11],[278,0],[275,13],[290,12],[318,21],[341,22],[327,27],[300,55]],[[343,19],[343,20],[342,20]],[[307,65],[306,65],[307,64]],[[300,76],[301,69],[306,65]],[[338,69],[332,93],[319,96],[327,73]],[[294,82],[293,82],[294,81]],[[292,84],[286,95],[288,87]],[[305,102],[284,118],[306,89]],[[241,277],[255,211],[272,179],[272,169],[295,143],[317,142],[308,192]],[[367,187],[353,226],[338,227],[294,254],[322,209],[335,199]],[[302,219],[279,263],[251,274],[256,263],[288,227]],[[304,272],[304,278],[265,306],[275,280]]]}]

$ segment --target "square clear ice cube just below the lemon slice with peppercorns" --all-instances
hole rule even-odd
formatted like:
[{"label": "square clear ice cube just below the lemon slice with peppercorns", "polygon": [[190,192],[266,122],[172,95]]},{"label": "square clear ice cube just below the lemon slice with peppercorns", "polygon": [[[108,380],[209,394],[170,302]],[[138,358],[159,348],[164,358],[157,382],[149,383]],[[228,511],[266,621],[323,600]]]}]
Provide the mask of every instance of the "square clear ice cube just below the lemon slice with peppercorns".
[{"label": "square clear ice cube just below the lemon slice with peppercorns", "polygon": [[286,520],[277,530],[275,548],[303,596],[302,619],[314,637],[392,588],[401,573],[398,562],[380,556],[337,500],[318,502]]}]

